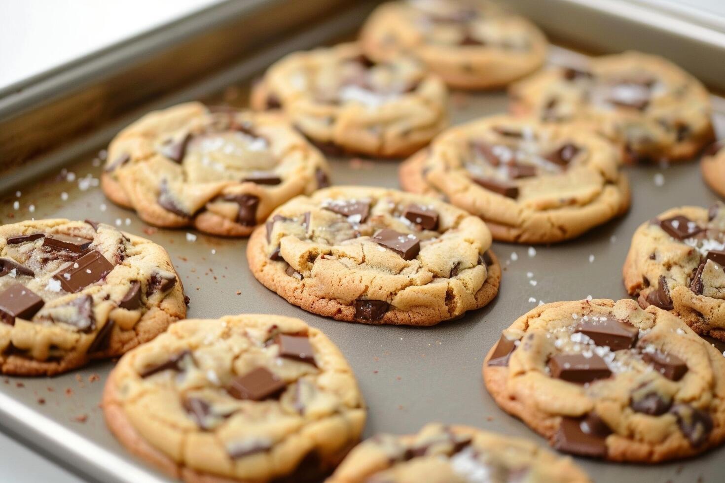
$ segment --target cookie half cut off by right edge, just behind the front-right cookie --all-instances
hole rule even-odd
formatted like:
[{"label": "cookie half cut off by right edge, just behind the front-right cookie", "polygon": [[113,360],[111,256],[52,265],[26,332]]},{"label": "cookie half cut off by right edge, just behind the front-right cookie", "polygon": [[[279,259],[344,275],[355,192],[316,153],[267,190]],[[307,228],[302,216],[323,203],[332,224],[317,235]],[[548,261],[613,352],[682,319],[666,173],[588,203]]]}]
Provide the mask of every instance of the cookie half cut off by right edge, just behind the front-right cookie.
[{"label": "cookie half cut off by right edge, just behind the front-right cookie", "polygon": [[674,311],[700,335],[725,340],[725,205],[682,206],[637,228],[624,285],[639,305]]}]

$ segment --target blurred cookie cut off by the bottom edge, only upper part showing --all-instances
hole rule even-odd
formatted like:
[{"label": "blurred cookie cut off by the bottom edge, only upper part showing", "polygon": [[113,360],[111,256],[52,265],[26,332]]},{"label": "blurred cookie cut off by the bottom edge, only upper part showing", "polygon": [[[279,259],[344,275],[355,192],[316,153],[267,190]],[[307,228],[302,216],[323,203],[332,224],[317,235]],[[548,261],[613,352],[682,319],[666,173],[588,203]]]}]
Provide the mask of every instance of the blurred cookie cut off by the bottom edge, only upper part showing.
[{"label": "blurred cookie cut off by the bottom edge, only upper part showing", "polygon": [[418,434],[379,434],[357,445],[327,483],[584,483],[571,458],[527,440],[465,426],[426,424]]}]

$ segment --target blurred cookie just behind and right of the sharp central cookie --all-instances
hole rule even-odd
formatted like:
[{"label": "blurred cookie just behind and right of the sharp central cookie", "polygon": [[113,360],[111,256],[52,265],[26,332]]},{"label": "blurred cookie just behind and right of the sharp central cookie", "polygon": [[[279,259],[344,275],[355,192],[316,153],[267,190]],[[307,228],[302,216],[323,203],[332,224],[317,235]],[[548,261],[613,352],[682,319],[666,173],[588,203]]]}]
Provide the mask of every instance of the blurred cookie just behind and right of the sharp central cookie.
[{"label": "blurred cookie just behind and right of the sharp central cookie", "polygon": [[399,181],[481,217],[495,240],[555,243],[626,212],[620,161],[582,125],[497,115],[446,130],[401,165]]}]

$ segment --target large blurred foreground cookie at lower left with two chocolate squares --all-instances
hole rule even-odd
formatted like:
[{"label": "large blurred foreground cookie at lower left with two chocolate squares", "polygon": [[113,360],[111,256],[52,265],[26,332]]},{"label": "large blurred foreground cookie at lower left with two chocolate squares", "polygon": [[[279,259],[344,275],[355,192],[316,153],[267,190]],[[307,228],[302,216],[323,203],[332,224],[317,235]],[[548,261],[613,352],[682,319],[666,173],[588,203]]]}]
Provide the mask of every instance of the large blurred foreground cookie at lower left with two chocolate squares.
[{"label": "large blurred foreground cookie at lower left with two chocolate squares", "polygon": [[333,343],[299,319],[188,319],[126,354],[104,389],[128,450],[194,483],[318,482],[365,406]]}]

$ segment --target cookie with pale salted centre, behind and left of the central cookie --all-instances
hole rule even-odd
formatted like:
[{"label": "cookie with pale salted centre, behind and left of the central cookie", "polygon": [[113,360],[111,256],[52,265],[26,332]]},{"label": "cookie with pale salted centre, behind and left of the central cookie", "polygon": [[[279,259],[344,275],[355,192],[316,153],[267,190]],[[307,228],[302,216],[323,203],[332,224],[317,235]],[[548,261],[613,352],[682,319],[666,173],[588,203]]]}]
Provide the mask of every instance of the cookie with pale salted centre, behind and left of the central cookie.
[{"label": "cookie with pale salted centre, behind and left of the central cookie", "polygon": [[280,114],[189,102],[121,131],[101,188],[147,223],[247,236],[281,203],[328,186],[328,175],[323,156]]}]

